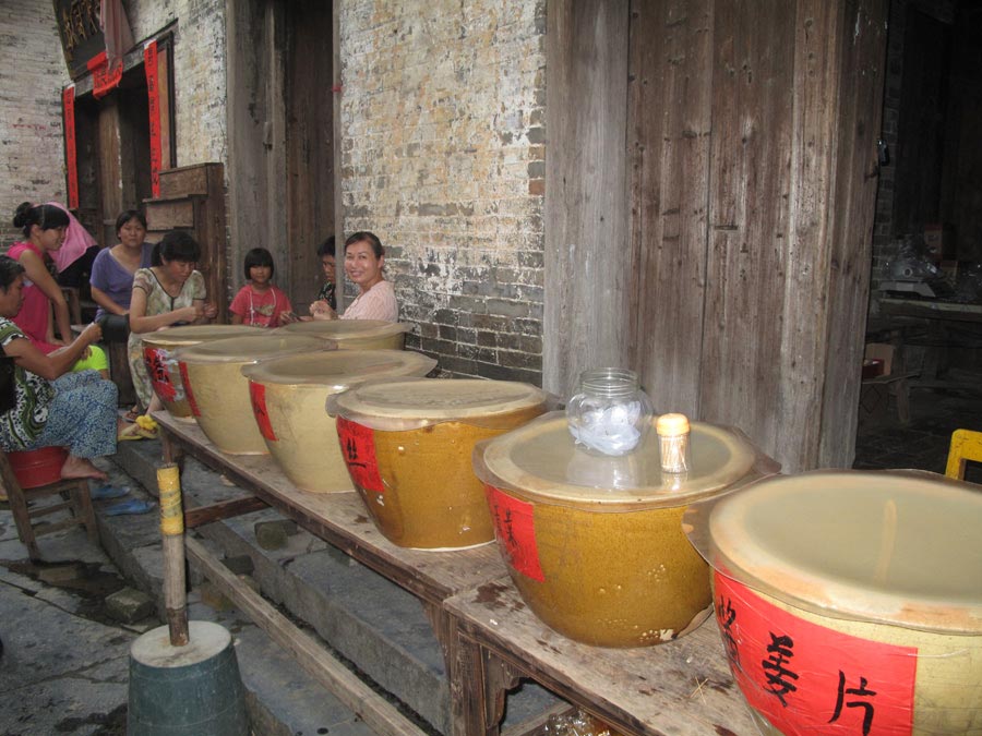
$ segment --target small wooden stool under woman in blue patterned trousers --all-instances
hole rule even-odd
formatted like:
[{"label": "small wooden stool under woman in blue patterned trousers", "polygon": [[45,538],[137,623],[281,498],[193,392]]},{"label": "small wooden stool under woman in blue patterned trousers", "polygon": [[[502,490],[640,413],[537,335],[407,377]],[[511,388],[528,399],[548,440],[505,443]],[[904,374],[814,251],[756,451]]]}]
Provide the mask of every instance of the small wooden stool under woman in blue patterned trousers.
[{"label": "small wooden stool under woman in blue patterned trousers", "polygon": [[[96,527],[95,512],[92,509],[92,497],[88,493],[88,481],[86,479],[58,480],[34,488],[22,488],[17,476],[14,475],[7,453],[0,450],[0,481],[2,481],[3,490],[7,492],[10,500],[10,510],[13,512],[14,523],[17,526],[17,536],[21,538],[21,542],[27,547],[27,554],[31,559],[40,559],[40,552],[37,548],[37,536],[68,529],[75,524],[84,524],[88,532],[88,540],[93,544],[99,543],[99,531]],[[55,494],[62,497],[62,503],[38,508],[31,508],[27,505],[29,500]],[[32,518],[48,516],[63,509],[68,509],[72,514],[71,518],[43,524],[34,524],[32,522]]]}]

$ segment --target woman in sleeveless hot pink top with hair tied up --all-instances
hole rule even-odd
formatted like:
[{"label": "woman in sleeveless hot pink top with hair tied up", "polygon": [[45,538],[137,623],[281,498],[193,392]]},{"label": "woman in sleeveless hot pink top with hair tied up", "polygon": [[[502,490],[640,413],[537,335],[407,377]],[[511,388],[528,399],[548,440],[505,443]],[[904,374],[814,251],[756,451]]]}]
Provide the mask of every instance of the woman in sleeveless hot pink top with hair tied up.
[{"label": "woman in sleeveless hot pink top with hair tied up", "polygon": [[[24,202],[17,207],[13,224],[23,229],[26,239],[11,245],[7,252],[25,272],[24,305],[13,322],[38,350],[51,353],[67,346],[72,333],[68,302],[61,287],[48,270],[45,258],[51,257],[62,246],[72,220],[58,205],[34,206]],[[59,333],[57,338],[51,324],[52,310]],[[77,366],[80,369],[108,370],[106,353],[98,346],[87,348],[80,361],[85,361]]]}]

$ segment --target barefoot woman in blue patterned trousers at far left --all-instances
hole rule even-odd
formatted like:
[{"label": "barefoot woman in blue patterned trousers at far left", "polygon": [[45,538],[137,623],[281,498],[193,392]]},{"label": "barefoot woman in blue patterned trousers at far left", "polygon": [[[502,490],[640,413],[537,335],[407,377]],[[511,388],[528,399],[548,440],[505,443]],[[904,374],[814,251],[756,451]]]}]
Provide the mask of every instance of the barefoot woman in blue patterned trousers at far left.
[{"label": "barefoot woman in blue patterned trousers at far left", "polygon": [[75,340],[50,354],[38,350],[12,322],[23,302],[25,269],[0,256],[0,347],[14,362],[14,408],[0,414],[4,450],[68,447],[62,478],[106,480],[92,459],[116,453],[119,431],[116,384],[95,371],[69,373],[85,349],[101,337],[88,325]]}]

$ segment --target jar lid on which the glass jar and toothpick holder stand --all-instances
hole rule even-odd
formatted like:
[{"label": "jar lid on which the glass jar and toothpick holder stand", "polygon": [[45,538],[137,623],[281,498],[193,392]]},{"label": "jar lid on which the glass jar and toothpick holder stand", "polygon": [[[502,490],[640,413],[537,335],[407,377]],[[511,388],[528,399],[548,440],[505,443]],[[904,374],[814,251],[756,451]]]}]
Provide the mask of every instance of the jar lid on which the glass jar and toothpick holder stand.
[{"label": "jar lid on which the glass jar and toothpick holder stand", "polygon": [[690,444],[692,470],[668,478],[655,432],[630,455],[601,457],[576,446],[565,414],[551,412],[479,445],[475,472],[495,487],[546,503],[618,511],[688,504],[779,468],[735,430],[693,422]]}]

